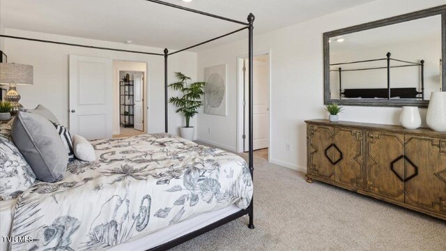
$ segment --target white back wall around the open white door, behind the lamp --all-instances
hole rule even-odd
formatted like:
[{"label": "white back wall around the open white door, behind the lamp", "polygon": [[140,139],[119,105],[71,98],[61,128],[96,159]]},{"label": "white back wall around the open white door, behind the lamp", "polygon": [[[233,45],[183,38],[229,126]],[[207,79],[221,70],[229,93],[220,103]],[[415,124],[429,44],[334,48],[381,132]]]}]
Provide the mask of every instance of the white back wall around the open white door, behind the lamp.
[{"label": "white back wall around the open white door, behind the lamp", "polygon": [[[162,53],[161,48],[125,45],[101,40],[59,36],[15,29],[5,29],[10,36],[24,36],[66,43],[79,43],[100,47],[112,47],[124,50]],[[34,84],[17,86],[22,96],[24,107],[36,107],[42,104],[57,116],[63,125],[68,125],[68,55],[99,56],[121,61],[140,61],[147,63],[148,96],[148,132],[164,132],[164,56],[95,50],[84,47],[54,45],[26,40],[5,39],[5,52],[9,63],[24,63],[34,66]],[[196,79],[197,54],[182,52],[169,57],[168,81],[175,81],[175,71],[180,71]],[[173,94],[169,91],[169,96]],[[179,133],[184,119],[175,113],[175,107],[169,105],[169,132]],[[193,122],[195,123],[195,122]]]}]

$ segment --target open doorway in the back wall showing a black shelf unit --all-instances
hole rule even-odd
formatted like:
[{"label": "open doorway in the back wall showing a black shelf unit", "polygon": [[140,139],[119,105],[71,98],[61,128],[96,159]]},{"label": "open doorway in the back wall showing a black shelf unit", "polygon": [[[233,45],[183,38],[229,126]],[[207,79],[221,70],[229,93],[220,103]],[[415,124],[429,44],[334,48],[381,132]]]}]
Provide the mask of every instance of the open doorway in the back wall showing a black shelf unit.
[{"label": "open doorway in the back wall showing a black shelf unit", "polygon": [[114,137],[146,133],[146,63],[114,61],[117,94]]}]

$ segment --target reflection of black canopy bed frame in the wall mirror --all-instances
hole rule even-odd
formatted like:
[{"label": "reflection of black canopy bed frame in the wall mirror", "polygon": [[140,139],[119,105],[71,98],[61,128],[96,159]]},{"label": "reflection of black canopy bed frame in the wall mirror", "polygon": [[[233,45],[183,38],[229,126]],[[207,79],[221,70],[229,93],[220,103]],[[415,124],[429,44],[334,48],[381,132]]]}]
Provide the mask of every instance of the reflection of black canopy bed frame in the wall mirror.
[{"label": "reflection of black canopy bed frame in the wall mirror", "polygon": [[[346,64],[354,64],[354,63],[367,63],[374,61],[387,61],[387,66],[383,67],[371,67],[371,68],[357,68],[357,69],[342,69],[341,67],[337,69],[330,69],[330,72],[338,72],[339,73],[339,99],[343,98],[390,98],[401,97],[401,98],[420,98],[424,100],[424,60],[420,60],[420,63],[414,63],[410,61],[404,61],[400,59],[392,59],[390,56],[392,54],[387,52],[385,54],[385,58],[383,59],[368,59],[362,61],[351,61],[344,63],[330,63],[330,66],[341,66]],[[397,61],[400,63],[408,63],[399,66],[390,66],[390,61]],[[391,68],[401,68],[401,67],[409,67],[409,66],[420,66],[421,68],[421,91],[417,91],[413,88],[391,88],[390,87],[390,69]],[[342,73],[349,71],[357,71],[357,70],[378,70],[378,69],[387,69],[387,89],[345,89],[342,92]],[[363,96],[358,96],[363,94]],[[421,97],[418,95],[421,94]],[[364,97],[365,96],[365,97]]]}]

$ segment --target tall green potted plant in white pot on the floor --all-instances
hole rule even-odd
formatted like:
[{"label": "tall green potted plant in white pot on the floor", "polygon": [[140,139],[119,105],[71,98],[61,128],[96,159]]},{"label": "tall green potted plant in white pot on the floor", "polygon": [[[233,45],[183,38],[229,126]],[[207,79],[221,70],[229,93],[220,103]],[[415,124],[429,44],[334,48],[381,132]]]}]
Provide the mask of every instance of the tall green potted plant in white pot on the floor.
[{"label": "tall green potted plant in white pot on the floor", "polygon": [[181,91],[183,96],[171,97],[169,102],[178,107],[176,112],[180,112],[185,116],[186,126],[180,128],[181,137],[192,140],[194,138],[194,127],[190,126],[190,118],[195,116],[198,113],[197,109],[203,105],[201,96],[204,94],[203,87],[206,82],[187,84],[187,80],[190,80],[190,77],[187,77],[183,73],[175,74],[178,82],[169,84],[169,87],[175,91]]}]

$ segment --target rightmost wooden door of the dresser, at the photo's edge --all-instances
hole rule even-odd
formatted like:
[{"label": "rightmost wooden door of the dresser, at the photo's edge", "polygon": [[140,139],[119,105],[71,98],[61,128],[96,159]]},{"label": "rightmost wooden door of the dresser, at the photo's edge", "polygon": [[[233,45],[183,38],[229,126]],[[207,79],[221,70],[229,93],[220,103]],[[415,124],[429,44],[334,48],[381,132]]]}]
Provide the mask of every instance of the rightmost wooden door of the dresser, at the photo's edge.
[{"label": "rightmost wooden door of the dresser, at the photo's edge", "polygon": [[446,139],[406,135],[405,202],[446,215]]}]

